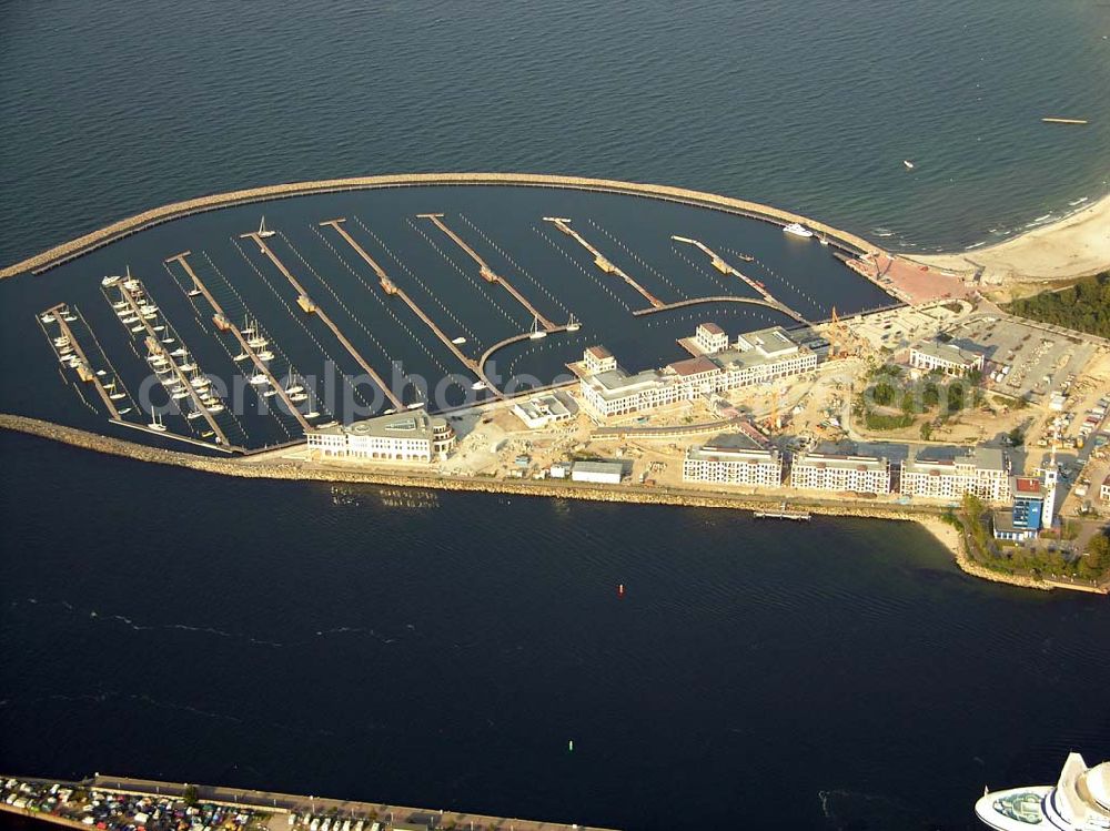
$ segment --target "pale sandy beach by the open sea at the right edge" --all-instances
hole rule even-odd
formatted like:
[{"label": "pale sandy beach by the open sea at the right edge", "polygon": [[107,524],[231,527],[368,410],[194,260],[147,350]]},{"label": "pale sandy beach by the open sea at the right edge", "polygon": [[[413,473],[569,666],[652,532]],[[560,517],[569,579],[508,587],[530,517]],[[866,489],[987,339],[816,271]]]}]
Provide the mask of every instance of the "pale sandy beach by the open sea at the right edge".
[{"label": "pale sandy beach by the open sea at the right edge", "polygon": [[958,273],[981,270],[988,286],[1098,274],[1110,268],[1110,196],[997,245],[910,259]]}]

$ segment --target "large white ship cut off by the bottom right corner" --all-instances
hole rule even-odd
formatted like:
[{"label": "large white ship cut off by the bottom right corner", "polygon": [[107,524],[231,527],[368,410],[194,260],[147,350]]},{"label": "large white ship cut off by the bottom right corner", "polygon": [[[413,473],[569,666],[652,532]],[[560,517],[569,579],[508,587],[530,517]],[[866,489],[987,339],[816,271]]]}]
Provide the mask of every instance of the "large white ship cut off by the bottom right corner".
[{"label": "large white ship cut off by the bottom right corner", "polygon": [[1108,831],[1110,762],[1088,768],[1083,757],[1069,753],[1054,787],[987,791],[975,812],[996,831]]}]

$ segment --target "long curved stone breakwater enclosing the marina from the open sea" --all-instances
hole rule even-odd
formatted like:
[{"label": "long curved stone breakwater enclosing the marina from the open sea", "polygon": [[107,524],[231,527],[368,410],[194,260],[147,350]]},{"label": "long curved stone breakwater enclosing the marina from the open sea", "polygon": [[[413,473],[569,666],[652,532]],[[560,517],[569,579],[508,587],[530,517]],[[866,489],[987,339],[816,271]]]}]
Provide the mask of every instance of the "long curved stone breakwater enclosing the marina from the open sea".
[{"label": "long curved stone breakwater enclosing the marina from the open sea", "polygon": [[531,188],[564,188],[579,191],[601,191],[620,193],[634,196],[662,199],[672,202],[713,207],[729,213],[736,213],[751,219],[788,224],[801,222],[808,227],[820,232],[829,242],[851,252],[885,253],[875,244],[860,236],[840,231],[831,225],[817,222],[800,214],[784,211],[770,205],[746,200],[720,196],[703,191],[670,185],[642,184],[620,182],[612,179],[587,179],[584,176],[561,176],[539,173],[406,173],[379,176],[353,176],[347,179],[327,179],[312,182],[291,182],[287,184],[264,185],[226,193],[215,193],[208,196],[173,202],[161,207],[129,216],[113,222],[111,225],[79,236],[75,240],[56,245],[52,249],[22,260],[8,267],[0,268],[0,278],[16,276],[26,272],[40,273],[57,265],[87,254],[94,249],[107,245],[130,234],[163,222],[189,216],[204,211],[214,211],[232,205],[264,202],[276,199],[289,199],[315,193],[335,193],[341,191],[359,191],[375,188],[406,188],[415,185],[517,185]]}]

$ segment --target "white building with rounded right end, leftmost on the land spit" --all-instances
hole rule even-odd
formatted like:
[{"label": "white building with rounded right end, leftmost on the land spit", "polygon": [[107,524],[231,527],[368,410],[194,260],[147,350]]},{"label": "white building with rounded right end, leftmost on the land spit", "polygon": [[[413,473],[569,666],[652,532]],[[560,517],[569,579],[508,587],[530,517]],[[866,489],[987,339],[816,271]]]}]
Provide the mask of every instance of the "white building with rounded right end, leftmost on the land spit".
[{"label": "white building with rounded right end, leftmost on the land spit", "polygon": [[424,409],[305,430],[309,452],[317,460],[431,464],[455,447],[455,430],[445,418]]}]

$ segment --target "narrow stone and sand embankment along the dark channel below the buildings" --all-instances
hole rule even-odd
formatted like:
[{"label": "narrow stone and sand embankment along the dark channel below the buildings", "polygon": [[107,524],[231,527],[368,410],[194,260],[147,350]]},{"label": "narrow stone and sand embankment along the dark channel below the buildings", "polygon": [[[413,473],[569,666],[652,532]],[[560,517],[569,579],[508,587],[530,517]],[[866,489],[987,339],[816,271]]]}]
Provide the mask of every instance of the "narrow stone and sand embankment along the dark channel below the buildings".
[{"label": "narrow stone and sand embankment along the dark channel below the buildings", "polygon": [[[781,496],[728,494],[722,491],[677,490],[673,488],[634,489],[626,485],[593,485],[561,480],[495,479],[485,477],[445,477],[405,470],[336,469],[305,467],[293,463],[265,464],[249,459],[221,459],[193,456],[178,450],[165,450],[134,444],[125,439],[102,436],[75,427],[52,424],[28,416],[0,413],[0,429],[52,439],[72,447],[80,447],[139,462],[183,467],[203,473],[240,478],[285,479],[295,482],[331,482],[380,485],[433,490],[513,494],[536,498],[585,499],[591,501],[620,501],[630,504],[672,505],[700,508],[730,508],[759,510],[768,505],[779,505]],[[556,484],[557,483],[557,484]],[[928,530],[951,554],[961,571],[991,582],[1001,582],[1027,589],[1049,591],[1053,588],[1077,588],[1035,580],[1023,575],[995,571],[971,560],[961,545],[960,534],[941,519],[941,506],[906,506],[885,503],[862,504],[830,498],[796,497],[791,507],[804,507],[810,514],[828,517],[860,517],[896,521],[914,521]],[[1082,589],[1091,590],[1091,589]],[[1098,594],[1106,594],[1098,591]]]}]

